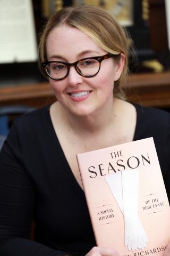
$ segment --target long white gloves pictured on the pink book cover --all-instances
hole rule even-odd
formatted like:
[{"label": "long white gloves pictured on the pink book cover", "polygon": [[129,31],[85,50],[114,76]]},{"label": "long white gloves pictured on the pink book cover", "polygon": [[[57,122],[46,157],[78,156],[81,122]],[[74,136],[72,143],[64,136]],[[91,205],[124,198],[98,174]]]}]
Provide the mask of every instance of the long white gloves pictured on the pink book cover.
[{"label": "long white gloves pictured on the pink book cover", "polygon": [[138,217],[139,170],[125,170],[105,177],[124,215],[125,246],[128,250],[144,249],[148,238]]}]

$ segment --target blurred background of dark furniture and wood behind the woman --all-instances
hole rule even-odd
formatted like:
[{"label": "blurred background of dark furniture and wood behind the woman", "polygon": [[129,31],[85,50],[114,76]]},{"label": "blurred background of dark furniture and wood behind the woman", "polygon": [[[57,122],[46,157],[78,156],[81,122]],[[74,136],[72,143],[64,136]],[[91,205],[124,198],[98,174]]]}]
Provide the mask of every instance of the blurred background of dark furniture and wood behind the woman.
[{"label": "blurred background of dark furniture and wood behind the woman", "polygon": [[13,118],[55,100],[37,65],[39,35],[53,13],[83,4],[111,12],[133,39],[128,100],[170,111],[169,0],[0,0],[0,141]]}]

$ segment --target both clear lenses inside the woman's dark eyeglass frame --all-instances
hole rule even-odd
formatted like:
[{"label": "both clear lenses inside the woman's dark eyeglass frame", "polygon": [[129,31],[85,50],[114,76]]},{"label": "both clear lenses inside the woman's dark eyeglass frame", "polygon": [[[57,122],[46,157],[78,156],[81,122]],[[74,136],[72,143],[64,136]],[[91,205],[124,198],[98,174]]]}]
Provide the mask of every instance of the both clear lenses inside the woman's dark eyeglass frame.
[{"label": "both clear lenses inside the woman's dark eyeglass frame", "polygon": [[[50,77],[61,79],[67,75],[69,68],[70,67],[67,67],[67,65],[64,63],[56,61],[53,63],[48,63],[46,66],[46,71]],[[80,60],[75,66],[77,72],[83,76],[94,76],[98,73],[99,68],[100,63],[95,59]]]}]

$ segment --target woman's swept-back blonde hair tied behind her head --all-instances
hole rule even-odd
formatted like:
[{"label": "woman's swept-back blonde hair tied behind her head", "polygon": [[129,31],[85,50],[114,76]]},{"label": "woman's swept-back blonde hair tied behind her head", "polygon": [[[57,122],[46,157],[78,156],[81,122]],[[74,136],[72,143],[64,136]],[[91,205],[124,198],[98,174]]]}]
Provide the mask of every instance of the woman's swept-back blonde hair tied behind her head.
[{"label": "woman's swept-back blonde hair tied behind her head", "polygon": [[[115,61],[120,60],[120,52],[125,55],[124,68],[120,79],[115,81],[114,95],[124,99],[121,85],[128,75],[128,56],[131,39],[125,29],[107,11],[97,6],[65,7],[55,13],[47,22],[39,42],[39,67],[44,74],[40,63],[47,61],[46,41],[50,32],[58,26],[66,25],[78,28],[90,36],[96,44],[105,51],[117,54]],[[45,74],[44,74],[45,75]]]}]

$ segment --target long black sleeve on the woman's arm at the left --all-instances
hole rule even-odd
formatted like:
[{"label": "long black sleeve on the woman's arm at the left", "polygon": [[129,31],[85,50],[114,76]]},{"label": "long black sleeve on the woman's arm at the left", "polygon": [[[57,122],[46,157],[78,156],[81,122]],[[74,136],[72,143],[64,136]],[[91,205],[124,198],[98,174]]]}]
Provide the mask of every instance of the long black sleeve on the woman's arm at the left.
[{"label": "long black sleeve on the woman's arm at the left", "polygon": [[14,124],[0,153],[0,255],[68,255],[30,240],[35,193],[22,159]]}]

